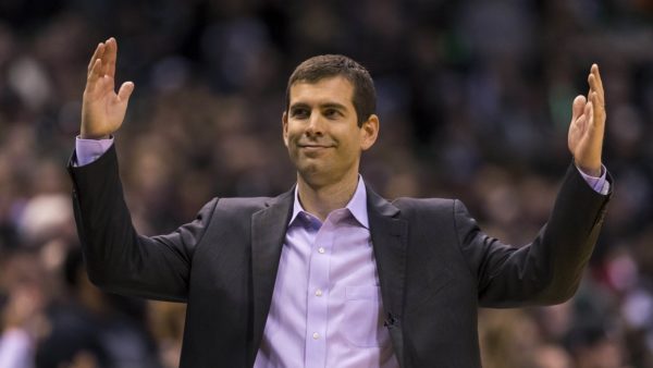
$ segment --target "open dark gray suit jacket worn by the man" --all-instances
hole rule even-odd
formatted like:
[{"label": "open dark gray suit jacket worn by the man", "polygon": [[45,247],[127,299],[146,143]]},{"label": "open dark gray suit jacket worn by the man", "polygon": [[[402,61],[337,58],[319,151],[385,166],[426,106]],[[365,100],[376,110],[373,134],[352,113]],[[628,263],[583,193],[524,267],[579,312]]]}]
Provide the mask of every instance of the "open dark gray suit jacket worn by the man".
[{"label": "open dark gray suit jacket worn by the man", "polygon": [[[195,221],[146,237],[132,225],[113,147],[69,171],[90,280],[110,292],[186,302],[181,367],[251,367],[293,192],[214,198]],[[367,192],[385,324],[404,368],[480,367],[479,306],[556,304],[574,295],[609,197],[571,167],[547,224],[516,248],[483,234],[458,200],[391,204]]]}]

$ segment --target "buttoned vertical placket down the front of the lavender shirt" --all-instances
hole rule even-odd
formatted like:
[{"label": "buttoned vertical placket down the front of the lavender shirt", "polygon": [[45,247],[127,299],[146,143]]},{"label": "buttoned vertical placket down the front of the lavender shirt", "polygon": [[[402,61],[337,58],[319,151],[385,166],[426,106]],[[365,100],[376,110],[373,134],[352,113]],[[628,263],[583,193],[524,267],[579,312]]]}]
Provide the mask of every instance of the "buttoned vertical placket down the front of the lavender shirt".
[{"label": "buttoned vertical placket down the front of the lavender shirt", "polygon": [[306,310],[305,367],[323,368],[326,364],[326,324],[329,320],[329,265],[333,250],[334,225],[322,224],[311,246]]}]

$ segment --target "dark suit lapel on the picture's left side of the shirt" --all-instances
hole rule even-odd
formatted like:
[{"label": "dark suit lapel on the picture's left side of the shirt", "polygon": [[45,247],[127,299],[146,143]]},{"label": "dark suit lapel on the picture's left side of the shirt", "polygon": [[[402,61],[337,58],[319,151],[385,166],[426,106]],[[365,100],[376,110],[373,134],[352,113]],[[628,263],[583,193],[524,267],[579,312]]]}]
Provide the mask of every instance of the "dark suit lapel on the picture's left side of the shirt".
[{"label": "dark suit lapel on the picture's left side of the shirt", "polygon": [[272,199],[266,206],[268,208],[251,216],[251,280],[254,293],[251,364],[254,364],[261,343],[263,328],[270,311],[281,249],[293,208],[293,191]]}]

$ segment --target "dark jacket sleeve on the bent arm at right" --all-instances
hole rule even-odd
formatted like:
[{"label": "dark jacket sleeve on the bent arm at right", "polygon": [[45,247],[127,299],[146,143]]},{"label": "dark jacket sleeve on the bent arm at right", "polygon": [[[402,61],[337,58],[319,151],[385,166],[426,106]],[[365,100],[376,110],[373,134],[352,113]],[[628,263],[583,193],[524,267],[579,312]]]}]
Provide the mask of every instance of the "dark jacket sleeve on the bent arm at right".
[{"label": "dark jacket sleeve on the bent arm at right", "polygon": [[[608,175],[612,185],[612,177]],[[534,241],[513,247],[482,233],[465,206],[456,200],[458,244],[478,280],[483,307],[516,307],[563,303],[578,289],[612,196],[594,192],[569,168],[547,223]]]}]

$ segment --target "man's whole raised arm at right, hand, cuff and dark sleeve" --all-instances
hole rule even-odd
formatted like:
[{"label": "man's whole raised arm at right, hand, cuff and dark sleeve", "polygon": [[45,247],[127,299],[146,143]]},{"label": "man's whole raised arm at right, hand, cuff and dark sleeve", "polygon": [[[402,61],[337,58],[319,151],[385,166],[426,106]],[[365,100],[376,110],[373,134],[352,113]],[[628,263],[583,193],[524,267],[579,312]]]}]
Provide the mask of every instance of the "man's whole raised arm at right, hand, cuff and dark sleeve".
[{"label": "man's whole raised arm at right, hand, cuff and dark sleeve", "polygon": [[606,113],[596,64],[588,83],[588,96],[572,102],[568,147],[575,168],[569,168],[550,220],[533,243],[503,245],[482,234],[464,208],[456,210],[461,247],[478,271],[483,306],[560,303],[580,283],[612,194],[612,179],[602,164]]}]

